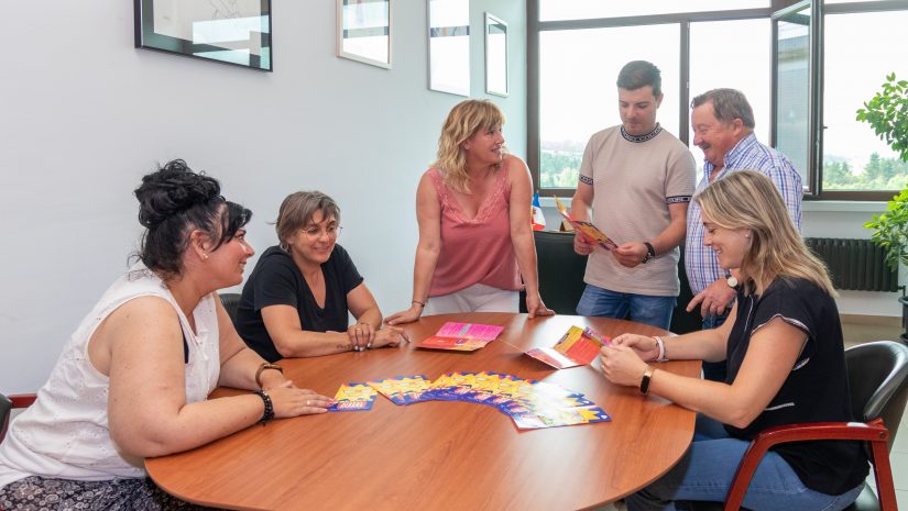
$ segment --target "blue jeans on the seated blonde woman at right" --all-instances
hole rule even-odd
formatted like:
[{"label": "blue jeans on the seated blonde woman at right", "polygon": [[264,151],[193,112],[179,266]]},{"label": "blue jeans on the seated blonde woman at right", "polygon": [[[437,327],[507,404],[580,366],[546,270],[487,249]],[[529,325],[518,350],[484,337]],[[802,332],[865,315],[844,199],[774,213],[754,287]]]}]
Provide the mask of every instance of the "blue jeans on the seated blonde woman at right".
[{"label": "blue jeans on the seated blonde woman at right", "polygon": [[[627,496],[627,511],[671,511],[679,509],[675,501],[724,501],[748,445],[747,441],[730,437],[719,422],[698,415],[687,454],[665,476]],[[744,496],[744,507],[761,511],[839,511],[854,502],[863,488],[862,482],[841,496],[811,490],[781,456],[770,451],[759,462]]]}]

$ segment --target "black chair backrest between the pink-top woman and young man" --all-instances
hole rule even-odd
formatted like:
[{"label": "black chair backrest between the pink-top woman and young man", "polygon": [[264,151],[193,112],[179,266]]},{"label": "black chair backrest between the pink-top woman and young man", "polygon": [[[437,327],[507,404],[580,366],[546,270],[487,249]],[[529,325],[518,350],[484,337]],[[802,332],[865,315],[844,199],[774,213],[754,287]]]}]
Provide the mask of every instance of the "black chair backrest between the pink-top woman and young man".
[{"label": "black chair backrest between the pink-top woman and young man", "polygon": [[587,256],[573,252],[573,233],[534,231],[539,268],[539,293],[546,307],[559,314],[577,314],[587,285]]}]

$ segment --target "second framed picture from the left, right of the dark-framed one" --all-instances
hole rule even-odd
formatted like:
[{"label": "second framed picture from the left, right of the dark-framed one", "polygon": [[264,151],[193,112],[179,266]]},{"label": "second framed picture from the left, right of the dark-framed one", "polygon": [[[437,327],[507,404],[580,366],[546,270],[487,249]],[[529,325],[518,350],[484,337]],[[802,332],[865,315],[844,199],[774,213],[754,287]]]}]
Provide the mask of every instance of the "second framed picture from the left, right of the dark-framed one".
[{"label": "second framed picture from the left, right of the dark-framed one", "polygon": [[391,69],[391,0],[335,1],[338,56]]}]

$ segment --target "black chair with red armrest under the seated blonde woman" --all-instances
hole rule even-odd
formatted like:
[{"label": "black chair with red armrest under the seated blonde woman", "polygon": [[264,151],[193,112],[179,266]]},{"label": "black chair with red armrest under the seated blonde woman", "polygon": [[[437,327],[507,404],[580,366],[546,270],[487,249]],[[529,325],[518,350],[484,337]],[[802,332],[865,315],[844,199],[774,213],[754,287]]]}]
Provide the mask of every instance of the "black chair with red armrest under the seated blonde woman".
[{"label": "black chair with red armrest under the seated blonde woman", "polygon": [[774,445],[811,440],[867,442],[876,478],[876,493],[867,486],[844,511],[895,511],[896,496],[889,451],[908,395],[908,346],[894,341],[860,344],[845,351],[852,411],[863,423],[827,422],[770,427],[761,432],[744,454],[725,503],[691,502],[694,511],[734,511],[741,508],[759,460]]}]

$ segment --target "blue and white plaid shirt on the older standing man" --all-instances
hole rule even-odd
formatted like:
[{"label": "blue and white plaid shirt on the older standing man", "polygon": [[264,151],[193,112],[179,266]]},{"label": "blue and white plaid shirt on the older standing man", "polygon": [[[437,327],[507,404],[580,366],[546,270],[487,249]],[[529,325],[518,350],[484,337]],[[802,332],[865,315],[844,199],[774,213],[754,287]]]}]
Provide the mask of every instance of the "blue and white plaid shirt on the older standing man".
[{"label": "blue and white plaid shirt on the older standing man", "polygon": [[[700,190],[709,186],[709,176],[714,168],[713,164],[703,163],[703,179],[697,185],[694,198]],[[791,165],[791,160],[778,151],[757,142],[756,135],[751,133],[725,155],[725,166],[719,171],[715,179],[722,179],[726,174],[735,170],[758,170],[772,179],[781,192],[781,198],[785,200],[791,221],[795,222],[798,231],[801,230],[803,186],[801,185],[801,176]],[[692,200],[687,210],[685,267],[690,289],[694,295],[725,276],[725,271],[719,267],[719,258],[715,257],[715,253],[712,252],[712,248],[703,246],[704,234],[705,229],[700,218],[700,204]]]}]

